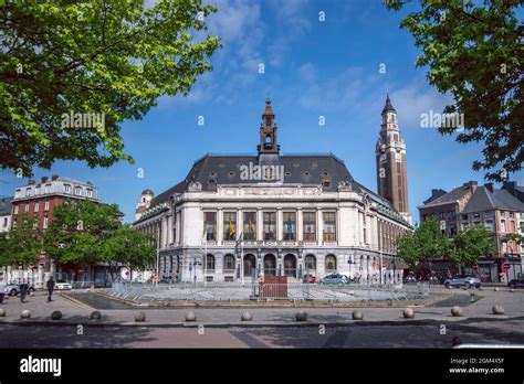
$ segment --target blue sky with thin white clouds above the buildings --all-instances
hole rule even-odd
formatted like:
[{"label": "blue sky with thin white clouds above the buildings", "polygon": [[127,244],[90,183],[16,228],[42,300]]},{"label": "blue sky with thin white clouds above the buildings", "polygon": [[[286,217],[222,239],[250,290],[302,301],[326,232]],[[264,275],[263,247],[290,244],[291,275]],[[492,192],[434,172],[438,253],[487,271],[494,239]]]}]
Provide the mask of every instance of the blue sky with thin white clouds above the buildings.
[{"label": "blue sky with thin white clouds above the buildings", "polygon": [[[161,97],[143,120],[122,125],[125,151],[135,164],[90,169],[85,162],[56,161],[51,170],[35,169],[33,179],[60,174],[92,181],[101,201],[118,204],[132,222],[143,190],[161,193],[207,152],[255,154],[269,94],[281,153],[333,152],[355,180],[377,191],[375,145],[389,90],[407,145],[415,221],[432,189],[484,182],[484,173],[471,169],[482,156],[480,143],[457,143],[452,136],[421,127],[421,114],[441,111],[451,98],[428,84],[427,68],[415,67],[420,51],[399,29],[411,6],[392,12],[379,0],[211,2],[219,11],[207,20],[209,32],[223,44],[211,58],[213,71],[188,97]],[[511,179],[524,184],[522,172]],[[0,195],[12,196],[25,184],[27,179],[0,171]]]}]

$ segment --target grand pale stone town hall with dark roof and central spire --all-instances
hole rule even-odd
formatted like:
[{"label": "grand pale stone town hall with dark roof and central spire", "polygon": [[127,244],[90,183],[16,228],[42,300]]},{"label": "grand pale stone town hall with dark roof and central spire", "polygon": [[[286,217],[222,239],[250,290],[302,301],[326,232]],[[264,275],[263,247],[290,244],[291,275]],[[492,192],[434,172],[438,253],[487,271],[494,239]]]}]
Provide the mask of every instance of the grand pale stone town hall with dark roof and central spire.
[{"label": "grand pale stone town hall with dark roof and central spire", "polygon": [[268,99],[256,154],[206,154],[167,191],[144,191],[133,225],[157,236],[160,276],[399,278],[395,241],[410,230],[404,216],[334,154],[281,154],[276,132]]}]

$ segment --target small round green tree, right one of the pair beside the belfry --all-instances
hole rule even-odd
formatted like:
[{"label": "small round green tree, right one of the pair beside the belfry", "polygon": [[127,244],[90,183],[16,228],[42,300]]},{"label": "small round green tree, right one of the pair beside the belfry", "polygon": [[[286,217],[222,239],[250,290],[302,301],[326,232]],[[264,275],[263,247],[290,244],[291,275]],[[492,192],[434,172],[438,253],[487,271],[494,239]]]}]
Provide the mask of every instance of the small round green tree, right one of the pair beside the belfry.
[{"label": "small round green tree, right one of the pair beside the belfry", "polygon": [[479,257],[494,252],[493,234],[483,226],[460,231],[452,244],[450,259],[459,266],[476,265]]}]

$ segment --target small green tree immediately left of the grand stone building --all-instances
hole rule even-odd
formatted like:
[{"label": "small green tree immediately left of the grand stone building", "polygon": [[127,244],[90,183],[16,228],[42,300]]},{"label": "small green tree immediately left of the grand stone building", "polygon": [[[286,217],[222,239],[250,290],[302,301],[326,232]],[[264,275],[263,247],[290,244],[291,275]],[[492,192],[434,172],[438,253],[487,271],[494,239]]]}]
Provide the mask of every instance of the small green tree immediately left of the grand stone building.
[{"label": "small green tree immediately left of the grand stone building", "polygon": [[120,264],[133,269],[144,269],[155,265],[156,247],[153,236],[144,235],[129,225],[116,230],[105,242],[105,259],[109,264]]}]

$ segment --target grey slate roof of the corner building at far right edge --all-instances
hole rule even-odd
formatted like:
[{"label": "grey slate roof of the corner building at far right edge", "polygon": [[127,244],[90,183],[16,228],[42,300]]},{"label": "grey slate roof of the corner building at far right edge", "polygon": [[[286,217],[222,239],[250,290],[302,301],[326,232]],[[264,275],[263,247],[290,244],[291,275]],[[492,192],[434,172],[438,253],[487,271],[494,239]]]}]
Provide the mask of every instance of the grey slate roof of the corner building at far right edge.
[{"label": "grey slate roof of the corner building at far right edge", "polygon": [[465,204],[463,213],[507,210],[524,212],[524,203],[504,189],[490,191],[485,185],[479,186]]}]

